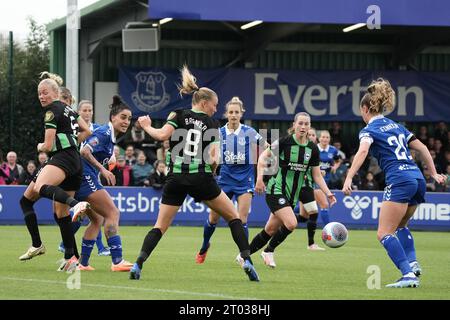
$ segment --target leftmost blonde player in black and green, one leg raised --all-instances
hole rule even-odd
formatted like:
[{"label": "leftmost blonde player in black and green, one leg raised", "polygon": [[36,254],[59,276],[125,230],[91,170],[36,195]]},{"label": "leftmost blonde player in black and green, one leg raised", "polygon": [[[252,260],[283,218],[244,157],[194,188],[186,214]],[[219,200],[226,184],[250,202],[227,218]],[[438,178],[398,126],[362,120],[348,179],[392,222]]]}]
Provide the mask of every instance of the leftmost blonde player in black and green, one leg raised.
[{"label": "leftmost blonde player in black and green, one leg raised", "polygon": [[74,211],[83,211],[88,206],[86,202],[73,198],[80,187],[82,174],[78,143],[91,132],[76,112],[58,100],[62,79],[49,73],[43,74],[47,78],[39,83],[38,94],[44,108],[45,139],[38,144],[37,151],[47,152],[50,159],[39,170],[20,200],[32,246],[19,259],[29,260],[45,253],[33,208],[34,203],[44,197],[54,201],[55,220],[66,247],[65,260],[60,270],[66,270],[74,268],[78,260],[69,207],[74,207]]}]

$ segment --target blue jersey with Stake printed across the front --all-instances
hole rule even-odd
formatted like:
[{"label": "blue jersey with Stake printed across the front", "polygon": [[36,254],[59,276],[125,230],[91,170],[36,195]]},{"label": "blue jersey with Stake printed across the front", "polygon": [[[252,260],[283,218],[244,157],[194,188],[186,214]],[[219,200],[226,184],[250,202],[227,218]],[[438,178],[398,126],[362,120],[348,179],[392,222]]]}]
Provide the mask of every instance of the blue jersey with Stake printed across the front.
[{"label": "blue jersey with Stake printed across the front", "polygon": [[225,125],[220,128],[220,139],[222,158],[219,183],[234,185],[254,179],[257,157],[252,152],[252,145],[259,143],[261,135],[244,124],[234,132],[230,132]]}]

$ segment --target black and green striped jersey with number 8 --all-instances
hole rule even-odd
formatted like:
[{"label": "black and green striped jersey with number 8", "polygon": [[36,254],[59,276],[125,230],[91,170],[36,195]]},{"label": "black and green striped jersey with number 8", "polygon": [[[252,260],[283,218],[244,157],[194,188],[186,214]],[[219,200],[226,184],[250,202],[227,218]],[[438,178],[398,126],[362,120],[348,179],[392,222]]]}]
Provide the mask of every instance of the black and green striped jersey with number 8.
[{"label": "black and green striped jersey with number 8", "polygon": [[166,158],[169,172],[212,173],[208,151],[211,143],[220,143],[219,123],[192,109],[171,112],[167,123],[175,128]]}]

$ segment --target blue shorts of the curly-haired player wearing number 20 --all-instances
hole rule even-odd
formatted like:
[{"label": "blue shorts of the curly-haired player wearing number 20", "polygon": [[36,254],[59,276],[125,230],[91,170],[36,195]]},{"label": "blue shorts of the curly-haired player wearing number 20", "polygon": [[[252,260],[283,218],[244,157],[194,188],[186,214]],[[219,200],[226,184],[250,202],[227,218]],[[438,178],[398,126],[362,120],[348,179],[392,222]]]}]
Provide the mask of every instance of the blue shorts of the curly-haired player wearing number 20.
[{"label": "blue shorts of the curly-haired player wearing number 20", "polygon": [[427,185],[423,179],[392,183],[384,188],[383,201],[417,205],[425,202]]}]

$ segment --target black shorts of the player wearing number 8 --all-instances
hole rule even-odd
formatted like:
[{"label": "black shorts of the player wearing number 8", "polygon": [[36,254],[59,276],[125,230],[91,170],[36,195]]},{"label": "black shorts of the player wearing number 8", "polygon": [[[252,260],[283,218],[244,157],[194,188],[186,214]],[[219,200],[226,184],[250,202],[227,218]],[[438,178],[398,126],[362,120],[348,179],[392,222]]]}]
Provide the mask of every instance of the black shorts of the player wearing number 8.
[{"label": "black shorts of the player wearing number 8", "polygon": [[195,202],[217,198],[222,190],[210,173],[169,174],[163,189],[162,204],[181,206],[187,195]]}]

